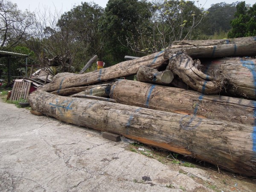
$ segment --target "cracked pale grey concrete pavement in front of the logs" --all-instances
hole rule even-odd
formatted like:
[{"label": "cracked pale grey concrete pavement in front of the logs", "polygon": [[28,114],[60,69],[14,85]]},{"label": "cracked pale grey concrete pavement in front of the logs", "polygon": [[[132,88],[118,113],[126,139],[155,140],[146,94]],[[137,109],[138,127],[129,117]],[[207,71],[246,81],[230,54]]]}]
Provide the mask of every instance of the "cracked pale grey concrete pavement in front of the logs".
[{"label": "cracked pale grey concrete pavement in front of the logs", "polygon": [[0,131],[1,192],[211,191],[128,143],[1,101]]}]

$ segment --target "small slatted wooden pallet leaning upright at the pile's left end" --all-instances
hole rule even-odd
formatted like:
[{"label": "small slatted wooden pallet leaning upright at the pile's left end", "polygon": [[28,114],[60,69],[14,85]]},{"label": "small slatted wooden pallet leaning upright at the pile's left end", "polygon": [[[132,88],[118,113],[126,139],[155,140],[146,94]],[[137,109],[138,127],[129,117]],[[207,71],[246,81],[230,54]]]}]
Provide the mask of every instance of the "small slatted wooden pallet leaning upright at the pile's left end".
[{"label": "small slatted wooden pallet leaning upright at the pile's left end", "polygon": [[19,99],[26,100],[29,96],[31,82],[27,81],[14,81],[12,88],[12,95],[10,97],[11,101],[16,101]]}]

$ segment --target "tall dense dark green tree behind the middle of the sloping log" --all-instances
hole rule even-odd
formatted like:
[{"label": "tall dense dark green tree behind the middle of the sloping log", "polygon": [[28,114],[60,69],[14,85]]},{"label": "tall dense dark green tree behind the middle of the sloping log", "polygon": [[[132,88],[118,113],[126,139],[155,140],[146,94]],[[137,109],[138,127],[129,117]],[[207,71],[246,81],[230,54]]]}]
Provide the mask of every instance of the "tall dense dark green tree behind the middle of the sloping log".
[{"label": "tall dense dark green tree behind the middle of the sloping log", "polygon": [[116,64],[125,55],[134,55],[129,49],[130,39],[137,39],[137,26],[148,23],[151,3],[145,0],[109,0],[101,20],[104,61]]}]

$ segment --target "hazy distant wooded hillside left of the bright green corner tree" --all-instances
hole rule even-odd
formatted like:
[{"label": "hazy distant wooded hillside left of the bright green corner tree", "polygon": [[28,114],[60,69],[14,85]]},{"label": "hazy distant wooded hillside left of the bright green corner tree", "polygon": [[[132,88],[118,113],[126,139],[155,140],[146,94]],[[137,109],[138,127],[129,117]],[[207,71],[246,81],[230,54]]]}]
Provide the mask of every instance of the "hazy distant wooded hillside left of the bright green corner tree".
[{"label": "hazy distant wooded hillside left of the bright green corner tree", "polygon": [[201,29],[206,35],[214,35],[216,33],[228,32],[231,29],[230,20],[234,19],[236,12],[236,3],[216,3],[212,4],[209,12],[201,23]]}]

